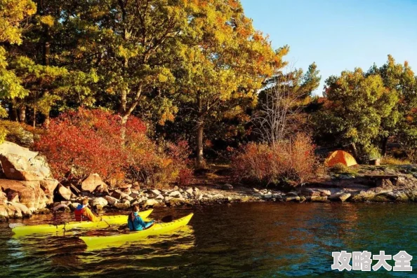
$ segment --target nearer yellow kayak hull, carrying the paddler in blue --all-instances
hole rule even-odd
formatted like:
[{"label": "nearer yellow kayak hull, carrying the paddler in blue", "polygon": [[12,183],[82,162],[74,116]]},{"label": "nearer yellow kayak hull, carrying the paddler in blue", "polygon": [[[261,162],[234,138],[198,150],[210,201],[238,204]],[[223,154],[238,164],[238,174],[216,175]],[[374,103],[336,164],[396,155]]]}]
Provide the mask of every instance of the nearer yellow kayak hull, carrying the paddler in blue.
[{"label": "nearer yellow kayak hull, carrying the paddler in blue", "polygon": [[190,222],[194,214],[188,214],[183,218],[179,218],[172,222],[168,223],[156,223],[146,230],[140,230],[138,232],[127,232],[121,235],[107,235],[107,236],[98,236],[98,237],[79,237],[82,239],[88,247],[98,246],[98,245],[107,245],[112,246],[120,242],[134,242],[135,240],[148,237],[150,235],[161,235],[171,230],[176,230],[181,228]]}]

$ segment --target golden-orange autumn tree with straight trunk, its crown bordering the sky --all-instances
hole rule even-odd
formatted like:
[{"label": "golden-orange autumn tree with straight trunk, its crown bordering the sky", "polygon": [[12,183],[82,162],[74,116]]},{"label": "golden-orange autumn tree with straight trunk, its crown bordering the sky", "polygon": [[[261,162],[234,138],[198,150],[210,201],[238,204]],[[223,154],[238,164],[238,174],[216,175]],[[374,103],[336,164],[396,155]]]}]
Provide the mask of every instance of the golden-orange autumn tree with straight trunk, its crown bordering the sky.
[{"label": "golden-orange autumn tree with straight trunk, its crown bordering the sky", "polygon": [[194,30],[187,39],[180,83],[181,108],[194,123],[197,166],[204,160],[204,129],[256,102],[262,82],[284,66],[288,48],[275,52],[253,29],[239,1],[212,0],[194,6],[188,18]]}]

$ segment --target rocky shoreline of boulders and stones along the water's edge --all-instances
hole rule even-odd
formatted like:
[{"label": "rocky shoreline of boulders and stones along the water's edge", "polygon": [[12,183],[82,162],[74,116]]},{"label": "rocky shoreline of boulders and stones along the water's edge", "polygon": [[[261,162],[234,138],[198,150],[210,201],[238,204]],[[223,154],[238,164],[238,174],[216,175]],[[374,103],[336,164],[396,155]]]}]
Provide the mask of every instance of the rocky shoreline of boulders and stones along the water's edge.
[{"label": "rocky shoreline of boulders and stones along the water's edge", "polygon": [[103,212],[128,211],[133,204],[146,209],[230,202],[417,202],[417,165],[361,166],[348,174],[317,176],[283,192],[232,185],[227,179],[184,188],[148,188],[137,182],[112,188],[98,174],[79,183],[61,184],[51,178],[41,155],[7,141],[0,145],[0,161],[0,221],[72,211],[84,197],[95,211]]}]

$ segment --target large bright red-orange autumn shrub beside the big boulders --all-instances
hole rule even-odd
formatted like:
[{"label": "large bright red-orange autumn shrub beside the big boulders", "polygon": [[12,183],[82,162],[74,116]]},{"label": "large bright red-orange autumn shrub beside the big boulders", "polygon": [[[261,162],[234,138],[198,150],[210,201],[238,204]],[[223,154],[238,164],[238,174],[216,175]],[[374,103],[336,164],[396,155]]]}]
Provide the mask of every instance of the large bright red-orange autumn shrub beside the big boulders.
[{"label": "large bright red-orange autumn shrub beside the big boulders", "polygon": [[36,143],[46,155],[57,179],[83,179],[93,172],[104,179],[123,179],[155,186],[185,182],[180,173],[187,169],[182,142],[158,151],[146,134],[143,121],[133,116],[126,123],[121,140],[121,118],[100,109],[69,111],[51,120]]}]

